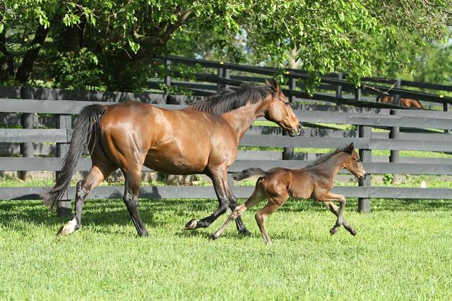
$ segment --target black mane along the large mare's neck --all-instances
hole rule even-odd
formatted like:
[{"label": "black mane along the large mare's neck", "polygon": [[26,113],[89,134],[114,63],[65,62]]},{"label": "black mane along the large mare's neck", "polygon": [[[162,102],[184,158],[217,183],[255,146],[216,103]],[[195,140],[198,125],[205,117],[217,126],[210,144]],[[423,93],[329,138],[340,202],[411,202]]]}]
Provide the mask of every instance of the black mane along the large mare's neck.
[{"label": "black mane along the large mare's neck", "polygon": [[197,111],[204,111],[221,115],[235,109],[239,109],[246,104],[256,104],[266,99],[268,95],[274,96],[272,87],[258,86],[256,84],[242,84],[234,90],[224,90],[208,97],[201,102],[194,102],[190,106]]}]

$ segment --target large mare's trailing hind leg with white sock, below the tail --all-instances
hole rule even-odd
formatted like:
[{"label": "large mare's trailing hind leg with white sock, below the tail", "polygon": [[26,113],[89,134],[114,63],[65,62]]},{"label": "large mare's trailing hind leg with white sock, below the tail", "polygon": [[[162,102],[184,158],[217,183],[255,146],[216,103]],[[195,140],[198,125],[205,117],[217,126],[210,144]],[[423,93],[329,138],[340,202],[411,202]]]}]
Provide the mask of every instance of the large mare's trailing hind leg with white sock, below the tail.
[{"label": "large mare's trailing hind leg with white sock, below the tail", "polygon": [[82,210],[88,193],[97,187],[104,178],[107,178],[112,171],[117,167],[111,165],[93,165],[91,166],[88,176],[85,176],[83,180],[78,181],[76,188],[76,215],[68,223],[65,223],[57,235],[67,235],[78,230],[82,226]]}]

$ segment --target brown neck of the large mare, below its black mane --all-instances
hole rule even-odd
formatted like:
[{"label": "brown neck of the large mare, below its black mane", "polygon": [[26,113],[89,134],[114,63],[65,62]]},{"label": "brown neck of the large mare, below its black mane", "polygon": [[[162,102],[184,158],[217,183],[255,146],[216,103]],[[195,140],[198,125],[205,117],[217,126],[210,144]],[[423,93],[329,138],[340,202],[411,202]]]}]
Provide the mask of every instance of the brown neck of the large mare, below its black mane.
[{"label": "brown neck of the large mare, below its black mane", "polygon": [[258,117],[263,116],[264,111],[265,108],[263,107],[263,104],[258,102],[224,113],[222,114],[222,118],[229,123],[230,127],[237,135],[237,142],[239,142],[253,121]]}]

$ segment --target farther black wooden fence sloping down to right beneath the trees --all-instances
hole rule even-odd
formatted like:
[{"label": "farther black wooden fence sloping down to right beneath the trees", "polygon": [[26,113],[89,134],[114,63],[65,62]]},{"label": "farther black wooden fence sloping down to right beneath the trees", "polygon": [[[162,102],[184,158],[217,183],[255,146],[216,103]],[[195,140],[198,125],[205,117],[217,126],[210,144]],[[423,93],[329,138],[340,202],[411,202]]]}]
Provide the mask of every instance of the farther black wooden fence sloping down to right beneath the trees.
[{"label": "farther black wooden fence sloping down to right beneath the trees", "polygon": [[[263,82],[264,77],[268,78],[275,74],[283,73],[287,78],[287,89],[284,92],[288,97],[292,98],[313,99],[321,102],[359,107],[402,109],[403,107],[400,106],[400,97],[406,97],[422,100],[429,104],[441,104],[444,111],[448,111],[448,104],[452,103],[452,97],[444,95],[444,93],[452,92],[452,86],[448,85],[436,85],[391,78],[363,78],[362,84],[359,87],[355,87],[354,84],[347,81],[347,74],[331,73],[320,77],[321,84],[319,89],[324,92],[309,95],[307,92],[304,92],[304,80],[309,78],[309,74],[303,70],[290,68],[280,70],[269,67],[244,66],[234,63],[189,59],[179,56],[160,57],[157,61],[167,66],[167,75],[163,80],[157,79],[150,81],[148,83],[150,88],[161,90],[161,84],[163,83],[167,86],[183,87],[189,90],[192,95],[199,96],[208,96],[224,87],[237,86],[243,82]],[[186,73],[182,74],[174,70],[174,68],[170,68],[170,66],[174,66],[175,64],[201,67],[203,72],[190,74],[188,76],[192,79],[190,82],[187,81]],[[434,93],[421,92],[421,90],[434,91]],[[382,94],[395,97],[396,104],[375,102],[376,96]]]}]

